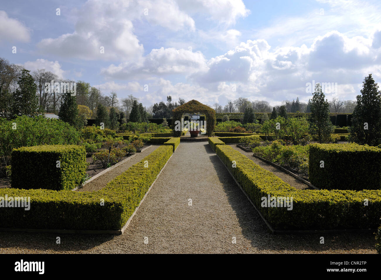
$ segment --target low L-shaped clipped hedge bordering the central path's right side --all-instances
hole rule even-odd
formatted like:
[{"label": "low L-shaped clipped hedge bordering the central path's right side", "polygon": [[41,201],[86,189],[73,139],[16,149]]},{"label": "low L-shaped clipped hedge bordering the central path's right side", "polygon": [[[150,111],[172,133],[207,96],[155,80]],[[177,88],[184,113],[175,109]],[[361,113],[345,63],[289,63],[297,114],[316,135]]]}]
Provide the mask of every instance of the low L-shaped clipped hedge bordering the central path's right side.
[{"label": "low L-shaped clipped hedge bordering the central path's right side", "polygon": [[[217,145],[216,154],[276,230],[376,229],[379,226],[381,190],[295,189],[230,146]],[[268,195],[293,197],[293,209],[261,207],[262,198]]]}]

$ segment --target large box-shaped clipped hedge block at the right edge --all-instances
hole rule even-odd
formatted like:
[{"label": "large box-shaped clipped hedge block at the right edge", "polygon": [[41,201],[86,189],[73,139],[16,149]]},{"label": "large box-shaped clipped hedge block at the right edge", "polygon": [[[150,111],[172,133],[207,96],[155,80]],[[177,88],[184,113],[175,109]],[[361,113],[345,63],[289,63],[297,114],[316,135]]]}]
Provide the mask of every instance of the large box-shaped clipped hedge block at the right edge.
[{"label": "large box-shaped clipped hedge block at the right edge", "polygon": [[320,189],[380,189],[381,149],[354,143],[311,144],[309,179]]}]

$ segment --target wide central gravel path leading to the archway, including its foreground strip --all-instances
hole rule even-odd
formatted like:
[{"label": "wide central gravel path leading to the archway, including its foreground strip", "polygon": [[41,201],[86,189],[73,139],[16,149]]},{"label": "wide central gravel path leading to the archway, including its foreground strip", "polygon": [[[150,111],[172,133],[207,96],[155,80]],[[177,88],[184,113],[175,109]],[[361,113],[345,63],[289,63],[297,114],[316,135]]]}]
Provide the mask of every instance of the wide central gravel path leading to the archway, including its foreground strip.
[{"label": "wide central gravel path leading to the archway, including its foreground strip", "polygon": [[56,236],[2,232],[0,253],[376,253],[372,234],[269,234],[205,142],[179,145],[123,235]]}]

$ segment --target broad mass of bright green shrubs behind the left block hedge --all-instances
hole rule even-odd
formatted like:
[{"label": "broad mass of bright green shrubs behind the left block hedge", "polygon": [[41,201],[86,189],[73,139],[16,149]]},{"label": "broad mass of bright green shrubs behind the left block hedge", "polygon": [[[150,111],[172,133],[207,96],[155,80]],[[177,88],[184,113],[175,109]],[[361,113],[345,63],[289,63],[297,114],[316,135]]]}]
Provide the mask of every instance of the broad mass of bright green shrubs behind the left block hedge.
[{"label": "broad mass of bright green shrubs behind the left block hedge", "polygon": [[[13,129],[15,128],[15,129]],[[78,131],[62,120],[43,116],[0,119],[0,169],[6,175],[14,148],[44,144],[78,144]]]}]

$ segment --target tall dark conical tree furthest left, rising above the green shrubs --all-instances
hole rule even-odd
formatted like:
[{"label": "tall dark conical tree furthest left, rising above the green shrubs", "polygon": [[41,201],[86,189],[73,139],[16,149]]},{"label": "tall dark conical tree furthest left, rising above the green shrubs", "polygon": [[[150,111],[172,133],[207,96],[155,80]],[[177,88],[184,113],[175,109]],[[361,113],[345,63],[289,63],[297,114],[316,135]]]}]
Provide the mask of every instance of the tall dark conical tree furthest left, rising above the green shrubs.
[{"label": "tall dark conical tree furthest left, rising above the green shrubs", "polygon": [[38,96],[36,95],[37,85],[34,83],[29,70],[23,69],[17,81],[18,88],[12,93],[12,115],[36,116],[40,113],[38,106]]}]

